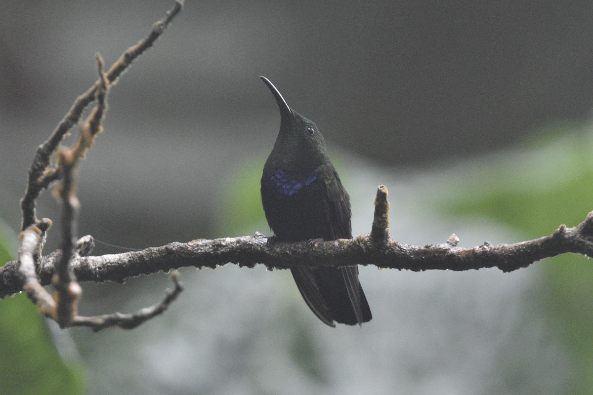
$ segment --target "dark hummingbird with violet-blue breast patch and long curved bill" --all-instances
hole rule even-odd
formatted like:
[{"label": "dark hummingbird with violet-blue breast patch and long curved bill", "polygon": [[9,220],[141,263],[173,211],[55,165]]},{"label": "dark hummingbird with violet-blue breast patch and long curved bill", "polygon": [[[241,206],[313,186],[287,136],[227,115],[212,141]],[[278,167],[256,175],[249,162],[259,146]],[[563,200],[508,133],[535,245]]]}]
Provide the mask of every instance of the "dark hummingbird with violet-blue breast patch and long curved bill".
[{"label": "dark hummingbird with violet-blue breast patch and long curved bill", "polygon": [[[260,76],[280,109],[280,131],[263,166],[262,204],[272,240],[352,239],[350,197],[313,121],[292,110],[278,89]],[[322,322],[362,325],[372,318],[358,280],[358,266],[291,268],[307,306]]]}]

